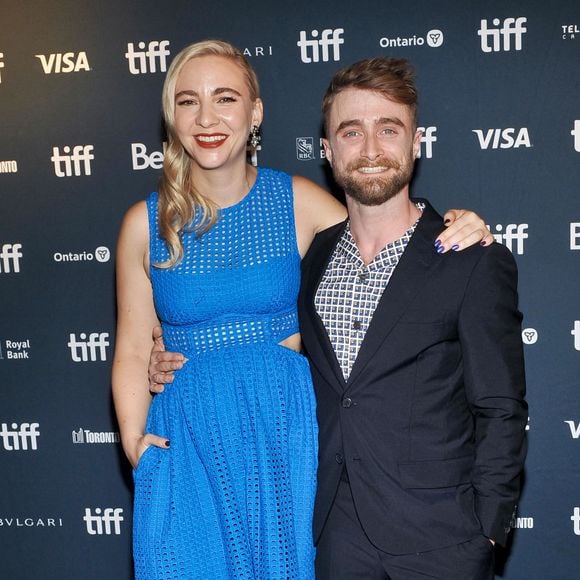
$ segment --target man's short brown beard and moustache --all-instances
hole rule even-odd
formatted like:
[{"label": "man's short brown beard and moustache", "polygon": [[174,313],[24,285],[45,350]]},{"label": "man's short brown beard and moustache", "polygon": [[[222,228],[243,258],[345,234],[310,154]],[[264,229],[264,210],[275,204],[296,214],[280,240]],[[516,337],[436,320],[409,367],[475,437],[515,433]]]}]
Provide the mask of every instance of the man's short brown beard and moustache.
[{"label": "man's short brown beard and moustache", "polygon": [[[335,170],[334,179],[349,197],[361,205],[381,205],[409,185],[413,176],[413,165],[411,156],[405,156],[401,163],[386,158],[374,163],[357,159],[349,163],[343,171]],[[372,173],[355,176],[355,172],[361,167],[385,167],[394,173],[388,177],[375,177]]]}]

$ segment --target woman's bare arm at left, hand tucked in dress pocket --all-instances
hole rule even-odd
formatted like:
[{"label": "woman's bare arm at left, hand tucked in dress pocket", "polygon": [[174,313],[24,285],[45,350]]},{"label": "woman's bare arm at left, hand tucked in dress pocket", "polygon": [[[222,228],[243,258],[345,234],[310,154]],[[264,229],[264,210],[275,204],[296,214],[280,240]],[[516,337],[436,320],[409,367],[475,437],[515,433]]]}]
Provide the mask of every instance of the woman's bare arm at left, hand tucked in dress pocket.
[{"label": "woman's bare arm at left, hand tucked in dress pocket", "polygon": [[149,445],[168,441],[145,435],[151,404],[147,364],[153,346],[151,329],[159,324],[153,305],[149,268],[149,229],[145,202],[134,205],[123,220],[117,245],[117,335],[113,359],[113,400],[121,442],[137,466]]}]

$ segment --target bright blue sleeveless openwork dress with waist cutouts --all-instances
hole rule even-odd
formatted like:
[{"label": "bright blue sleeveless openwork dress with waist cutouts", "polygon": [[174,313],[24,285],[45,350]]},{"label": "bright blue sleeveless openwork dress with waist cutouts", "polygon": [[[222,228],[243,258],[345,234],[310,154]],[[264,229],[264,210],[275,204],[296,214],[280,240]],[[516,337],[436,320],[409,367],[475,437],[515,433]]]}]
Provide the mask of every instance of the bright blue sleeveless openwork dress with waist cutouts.
[{"label": "bright blue sleeveless openwork dress with waist cutouts", "polygon": [[147,199],[151,282],[167,350],[188,358],[151,404],[134,473],[136,578],[314,578],[315,400],[298,332],[292,181],[259,169],[173,269]]}]

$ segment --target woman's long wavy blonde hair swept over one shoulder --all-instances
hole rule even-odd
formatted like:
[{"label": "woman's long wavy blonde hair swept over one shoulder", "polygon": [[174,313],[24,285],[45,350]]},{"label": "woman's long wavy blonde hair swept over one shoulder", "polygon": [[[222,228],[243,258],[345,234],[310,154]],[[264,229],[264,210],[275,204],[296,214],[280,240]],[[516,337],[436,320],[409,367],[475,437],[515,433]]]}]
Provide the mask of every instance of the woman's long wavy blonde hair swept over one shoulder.
[{"label": "woman's long wavy blonde hair swept over one shoulder", "polygon": [[[171,268],[183,259],[181,235],[184,231],[206,232],[218,217],[216,205],[199,193],[191,177],[192,160],[183,148],[175,131],[175,85],[184,65],[192,58],[221,56],[237,64],[243,71],[254,102],[260,96],[258,78],[243,53],[222,40],[203,40],[186,46],[175,56],[162,92],[163,117],[167,130],[167,148],[163,173],[159,183],[159,232],[167,243],[169,259],[155,264],[159,268]],[[200,219],[192,225],[196,209],[201,210]],[[192,227],[189,230],[188,227]]]}]

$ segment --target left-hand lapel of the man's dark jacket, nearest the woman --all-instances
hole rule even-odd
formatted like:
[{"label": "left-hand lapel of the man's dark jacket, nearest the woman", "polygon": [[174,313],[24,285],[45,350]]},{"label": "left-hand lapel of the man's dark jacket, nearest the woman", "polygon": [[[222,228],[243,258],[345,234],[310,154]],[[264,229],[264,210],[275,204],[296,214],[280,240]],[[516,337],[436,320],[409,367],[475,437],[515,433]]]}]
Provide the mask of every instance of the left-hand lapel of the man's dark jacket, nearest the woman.
[{"label": "left-hand lapel of the man's dark jacket, nearest the woman", "polygon": [[346,221],[325,232],[324,237],[312,245],[309,255],[305,258],[307,267],[303,271],[302,278],[301,307],[303,316],[300,321],[302,340],[311,363],[318,367],[322,376],[330,376],[330,373],[332,373],[337,379],[336,381],[331,381],[332,385],[341,393],[345,387],[344,376],[326,328],[316,312],[314,298],[322,280],[322,275],[326,271],[334,248],[345,227]]}]

